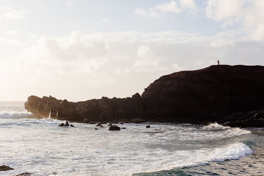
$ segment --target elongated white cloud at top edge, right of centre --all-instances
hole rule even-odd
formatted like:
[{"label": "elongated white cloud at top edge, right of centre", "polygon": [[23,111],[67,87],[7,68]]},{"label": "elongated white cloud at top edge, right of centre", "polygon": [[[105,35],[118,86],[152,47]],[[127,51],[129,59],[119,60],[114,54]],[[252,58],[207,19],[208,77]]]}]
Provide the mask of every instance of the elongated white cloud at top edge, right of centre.
[{"label": "elongated white cloud at top edge, right of centre", "polygon": [[150,16],[159,18],[166,13],[181,13],[183,10],[196,10],[196,4],[194,0],[180,0],[180,3],[172,0],[169,3],[156,5],[154,7],[142,9],[138,8],[135,13],[142,16]]}]

